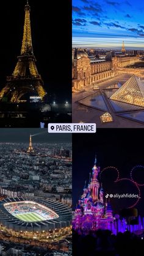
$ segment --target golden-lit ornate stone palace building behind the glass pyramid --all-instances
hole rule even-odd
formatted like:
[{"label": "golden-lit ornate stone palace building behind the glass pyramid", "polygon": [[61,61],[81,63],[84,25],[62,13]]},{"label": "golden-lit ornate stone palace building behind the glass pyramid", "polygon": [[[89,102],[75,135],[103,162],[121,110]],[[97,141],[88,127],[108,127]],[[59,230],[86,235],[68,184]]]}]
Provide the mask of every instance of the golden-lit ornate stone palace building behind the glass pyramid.
[{"label": "golden-lit ornate stone palace building behind the glass pyramid", "polygon": [[126,67],[139,61],[137,56],[115,56],[108,53],[106,59],[90,60],[83,49],[73,49],[72,86],[73,91],[84,89],[85,86],[113,78],[118,68]]}]

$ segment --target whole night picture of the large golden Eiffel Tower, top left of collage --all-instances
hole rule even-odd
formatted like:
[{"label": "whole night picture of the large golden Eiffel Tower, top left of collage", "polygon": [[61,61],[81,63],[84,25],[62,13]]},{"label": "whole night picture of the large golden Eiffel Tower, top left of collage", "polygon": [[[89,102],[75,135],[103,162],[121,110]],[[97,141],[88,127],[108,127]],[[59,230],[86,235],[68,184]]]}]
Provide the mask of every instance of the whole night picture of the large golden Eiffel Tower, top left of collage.
[{"label": "whole night picture of the large golden Eiffel Tower, top left of collage", "polygon": [[[66,54],[57,54],[59,34],[55,27],[48,27],[45,4],[34,0],[8,2],[2,2],[4,16],[0,18],[1,23],[5,18],[10,21],[1,31],[0,126],[46,128],[51,121],[71,122],[70,76],[61,79],[64,62],[70,59],[69,46],[59,42]],[[53,7],[51,3],[49,9]],[[67,30],[60,33],[67,43]]]}]

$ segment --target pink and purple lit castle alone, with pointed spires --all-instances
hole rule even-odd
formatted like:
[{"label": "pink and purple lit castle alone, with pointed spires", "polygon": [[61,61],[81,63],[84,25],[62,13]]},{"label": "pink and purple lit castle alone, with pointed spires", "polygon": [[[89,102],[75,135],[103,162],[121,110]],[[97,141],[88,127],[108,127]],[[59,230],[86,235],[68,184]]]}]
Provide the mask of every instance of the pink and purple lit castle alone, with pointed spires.
[{"label": "pink and purple lit castle alone, with pointed spires", "polygon": [[92,168],[92,178],[88,186],[84,186],[83,194],[74,212],[74,230],[115,230],[112,207],[110,203],[104,202],[103,186],[98,181],[100,167],[95,164]]}]

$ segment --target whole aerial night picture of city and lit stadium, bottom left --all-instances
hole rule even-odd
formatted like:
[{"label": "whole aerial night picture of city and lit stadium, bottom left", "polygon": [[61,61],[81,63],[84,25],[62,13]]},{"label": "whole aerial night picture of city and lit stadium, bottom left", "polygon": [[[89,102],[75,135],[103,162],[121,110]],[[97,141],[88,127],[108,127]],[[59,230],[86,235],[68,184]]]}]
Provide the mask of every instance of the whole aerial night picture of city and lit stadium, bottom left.
[{"label": "whole aerial night picture of city and lit stadium, bottom left", "polygon": [[1,129],[0,148],[0,255],[71,255],[71,136]]}]

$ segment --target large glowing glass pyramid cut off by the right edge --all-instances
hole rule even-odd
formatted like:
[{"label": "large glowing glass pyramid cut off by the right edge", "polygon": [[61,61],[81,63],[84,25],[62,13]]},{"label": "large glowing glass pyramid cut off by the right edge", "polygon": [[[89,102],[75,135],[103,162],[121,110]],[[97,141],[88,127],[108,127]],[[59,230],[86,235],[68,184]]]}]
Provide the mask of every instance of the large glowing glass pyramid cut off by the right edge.
[{"label": "large glowing glass pyramid cut off by the right edge", "polygon": [[144,107],[144,82],[132,75],[117,92],[113,93],[110,100]]}]

